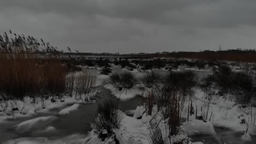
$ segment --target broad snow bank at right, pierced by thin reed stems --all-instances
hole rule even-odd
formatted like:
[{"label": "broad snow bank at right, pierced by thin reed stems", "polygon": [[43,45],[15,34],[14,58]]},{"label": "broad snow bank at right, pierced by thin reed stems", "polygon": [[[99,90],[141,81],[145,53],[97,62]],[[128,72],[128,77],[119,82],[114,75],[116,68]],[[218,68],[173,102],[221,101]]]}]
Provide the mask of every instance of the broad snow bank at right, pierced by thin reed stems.
[{"label": "broad snow bank at right, pierced by thin reed stems", "polygon": [[[226,95],[228,97],[228,95]],[[203,101],[204,101],[204,94],[200,89],[196,90],[195,98],[193,100],[193,106],[195,109],[195,106],[197,106],[197,116],[200,116],[202,114],[201,107],[203,107]],[[188,107],[188,103],[185,104],[184,107]],[[217,127],[226,127],[232,130],[237,131],[245,131],[246,130],[246,124],[241,123],[241,119],[245,118],[246,120],[250,115],[246,115],[245,112],[249,110],[249,107],[246,107],[245,109],[240,109],[239,105],[237,105],[234,101],[231,99],[224,99],[223,97],[220,97],[218,94],[213,95],[213,99],[210,104],[210,109],[208,113],[208,119],[210,119],[211,114],[211,122],[214,126]],[[253,109],[253,113],[255,110]],[[183,118],[187,118],[187,110],[184,110],[182,113]],[[195,115],[190,116],[190,119],[195,119]],[[250,120],[251,118],[249,118]],[[251,122],[249,122],[251,123]],[[256,134],[256,127],[249,125],[248,132],[250,134]]]}]

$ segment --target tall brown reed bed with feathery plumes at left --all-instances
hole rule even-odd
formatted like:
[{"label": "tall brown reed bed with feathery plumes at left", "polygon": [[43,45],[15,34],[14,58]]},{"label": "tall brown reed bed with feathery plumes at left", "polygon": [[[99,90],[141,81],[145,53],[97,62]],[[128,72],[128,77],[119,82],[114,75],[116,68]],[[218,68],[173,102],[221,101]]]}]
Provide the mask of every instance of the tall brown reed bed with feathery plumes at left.
[{"label": "tall brown reed bed with feathery plumes at left", "polygon": [[44,100],[47,94],[65,92],[66,68],[56,47],[42,39],[39,42],[11,31],[10,35],[0,35],[1,97],[5,101],[23,100],[25,96]]}]

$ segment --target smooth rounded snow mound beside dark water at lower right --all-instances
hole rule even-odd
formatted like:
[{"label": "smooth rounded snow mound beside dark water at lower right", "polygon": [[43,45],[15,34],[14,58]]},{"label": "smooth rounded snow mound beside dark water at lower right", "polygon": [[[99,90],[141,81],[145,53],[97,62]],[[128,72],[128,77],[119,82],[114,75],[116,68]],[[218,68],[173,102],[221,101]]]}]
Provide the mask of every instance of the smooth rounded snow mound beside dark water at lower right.
[{"label": "smooth rounded snow mound beside dark water at lower right", "polygon": [[183,130],[186,135],[195,135],[195,134],[216,134],[211,122],[203,122],[200,120],[191,120],[185,122],[182,125]]}]

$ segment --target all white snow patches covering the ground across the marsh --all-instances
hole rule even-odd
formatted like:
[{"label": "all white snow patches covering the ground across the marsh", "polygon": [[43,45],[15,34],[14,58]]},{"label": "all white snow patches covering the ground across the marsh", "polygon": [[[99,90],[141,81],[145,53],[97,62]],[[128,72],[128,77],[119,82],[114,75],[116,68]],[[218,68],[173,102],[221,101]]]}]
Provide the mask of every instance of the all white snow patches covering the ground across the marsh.
[{"label": "all white snow patches covering the ground across the marsh", "polygon": [[[97,69],[97,68],[95,68]],[[233,71],[241,70],[240,66],[232,66],[231,69]],[[127,68],[121,69],[122,71],[126,71]],[[179,67],[178,69],[172,69],[172,71],[181,71],[181,70],[192,70],[192,71],[200,71],[200,72],[209,72],[209,68],[205,69],[197,69],[197,68],[188,68],[188,67]],[[149,71],[149,70],[148,70]],[[164,70],[163,70],[164,71]],[[133,70],[133,73],[136,74],[137,77],[144,75],[144,71],[139,69]],[[96,77],[96,86],[102,86],[103,81],[108,79],[108,75],[97,75]],[[126,89],[125,91],[119,91],[119,89],[114,88],[112,85],[105,85],[107,89],[112,91],[112,94],[115,97],[121,100],[132,99],[136,97],[136,95],[143,95],[141,91],[136,89]],[[102,94],[103,95],[103,94]],[[201,115],[201,107],[203,107],[203,101],[205,100],[203,92],[200,89],[196,89],[195,96],[193,98],[193,106],[197,106],[197,116]],[[31,117],[34,115],[38,115],[38,113],[53,113],[56,115],[68,115],[77,109],[79,109],[79,104],[86,104],[88,102],[75,100],[73,98],[66,97],[64,102],[57,101],[56,103],[51,103],[50,100],[45,101],[45,109],[41,108],[39,101],[35,105],[31,104],[31,99],[26,98],[25,101],[18,101],[18,108],[21,111],[15,111],[14,117],[10,115],[6,115],[3,112],[0,112],[0,123],[6,122],[11,119],[19,119],[22,117]],[[69,105],[69,107],[67,107]],[[70,106],[71,105],[71,106]],[[184,107],[188,107],[186,103]],[[59,108],[59,111],[54,111],[54,109]],[[246,107],[245,109],[239,107],[234,101],[230,99],[224,99],[223,97],[219,97],[218,95],[214,95],[213,100],[210,104],[210,109],[208,113],[208,118],[211,116],[211,121],[202,122],[200,120],[195,119],[195,115],[189,116],[189,121],[186,121],[182,124],[181,128],[184,130],[185,134],[175,139],[181,138],[183,136],[188,135],[200,135],[200,134],[210,134],[216,135],[216,131],[214,127],[226,127],[234,131],[242,131],[245,133],[246,124],[242,124],[242,119],[245,121],[249,121],[249,130],[246,135],[241,135],[241,139],[245,141],[252,140],[252,135],[256,135],[256,127],[251,124],[251,116],[249,115],[250,107]],[[255,113],[256,110],[252,109],[252,113]],[[115,129],[115,134],[120,143],[123,144],[131,144],[131,143],[149,143],[149,128],[150,123],[156,123],[160,121],[160,116],[156,115],[153,121],[152,118],[156,112],[153,112],[152,116],[148,116],[144,113],[144,107],[137,107],[136,110],[132,111],[135,113],[133,117],[126,116],[124,113],[124,121],[122,122],[120,129]],[[10,113],[10,107],[7,109],[7,113]],[[141,119],[137,119],[141,117]],[[48,117],[38,117],[29,119],[28,121],[21,122],[15,126],[15,130],[18,133],[25,134],[27,132],[34,131],[34,133],[50,133],[50,131],[56,131],[57,128],[53,127],[50,123],[56,121],[59,117],[57,116],[48,116]],[[60,117],[61,118],[61,117]],[[184,108],[182,113],[182,118],[187,118],[187,110]],[[249,119],[249,120],[248,120]],[[150,122],[151,121],[151,122]],[[150,123],[149,123],[150,122]],[[161,122],[161,127],[165,127],[164,123]],[[63,125],[65,127],[65,125]],[[83,126],[81,126],[83,127]],[[162,129],[163,130],[163,129]],[[39,132],[38,132],[39,131]],[[95,131],[90,131],[89,136],[85,136],[83,134],[74,134],[65,137],[57,137],[56,139],[49,139],[49,137],[21,137],[19,139],[10,140],[7,143],[103,143],[101,140],[97,139],[97,135]],[[251,136],[250,136],[251,135]],[[86,138],[85,138],[86,137]],[[174,139],[174,138],[173,138]],[[113,139],[105,140],[104,142],[113,142]],[[198,144],[200,142],[197,142]],[[106,143],[107,144],[107,143]],[[195,142],[194,142],[195,144]],[[228,144],[228,143],[226,143]]]}]

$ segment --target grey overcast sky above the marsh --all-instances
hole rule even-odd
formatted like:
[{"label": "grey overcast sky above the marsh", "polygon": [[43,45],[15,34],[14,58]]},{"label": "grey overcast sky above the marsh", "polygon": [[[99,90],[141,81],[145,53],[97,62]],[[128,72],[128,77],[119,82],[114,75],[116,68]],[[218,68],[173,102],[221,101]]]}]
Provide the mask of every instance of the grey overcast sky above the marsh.
[{"label": "grey overcast sky above the marsh", "polygon": [[80,52],[256,48],[255,0],[0,0],[0,32]]}]

